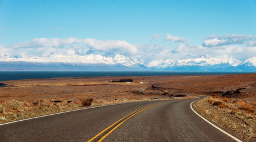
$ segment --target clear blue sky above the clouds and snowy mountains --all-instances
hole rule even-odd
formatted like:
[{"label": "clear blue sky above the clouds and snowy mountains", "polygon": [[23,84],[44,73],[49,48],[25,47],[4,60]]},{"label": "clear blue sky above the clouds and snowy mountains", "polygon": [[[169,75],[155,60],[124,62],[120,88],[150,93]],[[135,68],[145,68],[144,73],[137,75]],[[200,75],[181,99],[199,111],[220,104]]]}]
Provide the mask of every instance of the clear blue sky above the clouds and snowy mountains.
[{"label": "clear blue sky above the clouds and snowy mountains", "polygon": [[[216,49],[228,49],[228,46],[235,48],[232,50],[246,50],[241,54],[232,51],[225,53],[226,50],[220,53],[248,59],[256,53],[255,35],[256,1],[0,1],[2,56],[8,54],[19,57],[21,55],[14,54],[14,50],[25,52],[22,49],[36,49],[36,43],[25,44],[31,43],[35,38],[63,40],[74,37],[102,42],[125,41],[135,46],[137,52],[155,47],[158,54],[145,53],[145,56],[155,57],[152,60],[156,60],[161,52],[169,52],[162,56],[162,60],[168,57],[177,60],[186,54],[217,56],[219,50]],[[205,43],[207,40],[219,43]],[[17,47],[17,44],[22,43],[25,46]],[[74,44],[89,45],[80,41],[63,44],[65,48],[71,48]],[[202,47],[199,48],[202,45],[204,51],[200,49]],[[40,44],[40,47],[47,47],[49,51],[50,46]],[[95,48],[103,50],[104,47]],[[146,51],[152,52],[153,49]],[[33,56],[35,53],[28,51],[26,54]],[[127,54],[142,58],[144,62],[149,60],[143,59],[143,54],[135,51]]]}]

